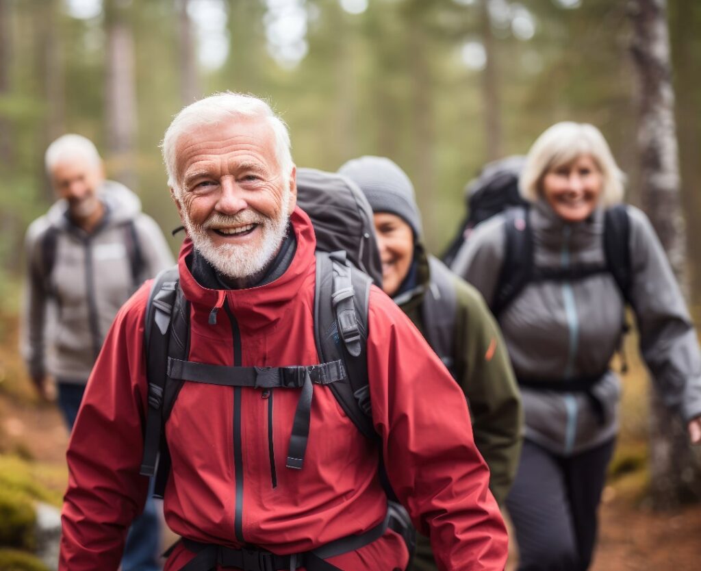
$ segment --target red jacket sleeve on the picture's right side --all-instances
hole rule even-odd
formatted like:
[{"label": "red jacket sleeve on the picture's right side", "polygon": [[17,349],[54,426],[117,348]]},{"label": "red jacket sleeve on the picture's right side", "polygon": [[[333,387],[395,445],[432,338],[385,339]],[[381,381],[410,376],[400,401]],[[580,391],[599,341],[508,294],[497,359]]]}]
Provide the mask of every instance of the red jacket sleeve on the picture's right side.
[{"label": "red jacket sleeve on the picture's right side", "polygon": [[462,391],[401,309],[372,288],[367,361],[388,478],[441,570],[502,571],[508,539]]}]

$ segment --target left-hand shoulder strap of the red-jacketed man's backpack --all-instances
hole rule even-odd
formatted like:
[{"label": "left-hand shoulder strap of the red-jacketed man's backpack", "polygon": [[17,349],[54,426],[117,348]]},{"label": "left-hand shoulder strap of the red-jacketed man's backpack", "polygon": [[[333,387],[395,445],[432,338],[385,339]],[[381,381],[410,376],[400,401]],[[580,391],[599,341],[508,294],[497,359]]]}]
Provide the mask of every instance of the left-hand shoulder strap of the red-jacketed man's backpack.
[{"label": "left-hand shoulder strap of the red-jacketed man's backpack", "polygon": [[144,434],[144,456],[139,473],[154,476],[161,448],[163,396],[168,377],[168,345],[171,316],[179,290],[177,266],[161,271],[149,293],[144,323],[144,352],[147,356],[148,409]]}]

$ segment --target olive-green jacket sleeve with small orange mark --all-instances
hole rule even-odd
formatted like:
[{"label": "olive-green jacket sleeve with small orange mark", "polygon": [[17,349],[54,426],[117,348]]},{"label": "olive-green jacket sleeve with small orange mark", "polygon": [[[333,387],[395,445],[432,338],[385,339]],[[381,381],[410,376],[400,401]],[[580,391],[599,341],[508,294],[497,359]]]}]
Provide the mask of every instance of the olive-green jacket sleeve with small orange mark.
[{"label": "olive-green jacket sleeve with small orange mark", "polygon": [[516,477],[522,443],[521,397],[498,325],[482,295],[456,278],[456,372],[468,398],[489,488],[503,504]]}]

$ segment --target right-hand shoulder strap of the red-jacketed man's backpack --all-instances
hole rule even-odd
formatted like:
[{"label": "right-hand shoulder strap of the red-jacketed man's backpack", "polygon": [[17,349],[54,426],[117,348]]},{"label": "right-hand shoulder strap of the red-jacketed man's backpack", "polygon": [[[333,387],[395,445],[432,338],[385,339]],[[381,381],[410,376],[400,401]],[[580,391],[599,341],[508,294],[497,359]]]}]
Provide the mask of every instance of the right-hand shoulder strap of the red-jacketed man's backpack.
[{"label": "right-hand shoulder strap of the red-jacketed man's backpack", "polygon": [[317,351],[322,361],[341,359],[348,372],[347,380],[329,384],[329,389],[358,430],[368,438],[376,438],[370,417],[367,377],[367,310],[371,284],[371,278],[346,263],[345,253],[316,253],[314,335]]}]

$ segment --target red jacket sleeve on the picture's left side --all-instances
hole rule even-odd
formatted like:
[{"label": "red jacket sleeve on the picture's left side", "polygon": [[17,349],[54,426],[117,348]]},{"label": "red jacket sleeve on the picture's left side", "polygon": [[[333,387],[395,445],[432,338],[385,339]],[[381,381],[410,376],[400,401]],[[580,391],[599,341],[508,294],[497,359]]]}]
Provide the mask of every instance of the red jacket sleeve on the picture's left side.
[{"label": "red jacket sleeve on the picture's left side", "polygon": [[60,571],[116,570],[146,501],[149,478],[139,476],[139,466],[148,295],[146,283],[118,312],[88,380],[67,452]]}]

